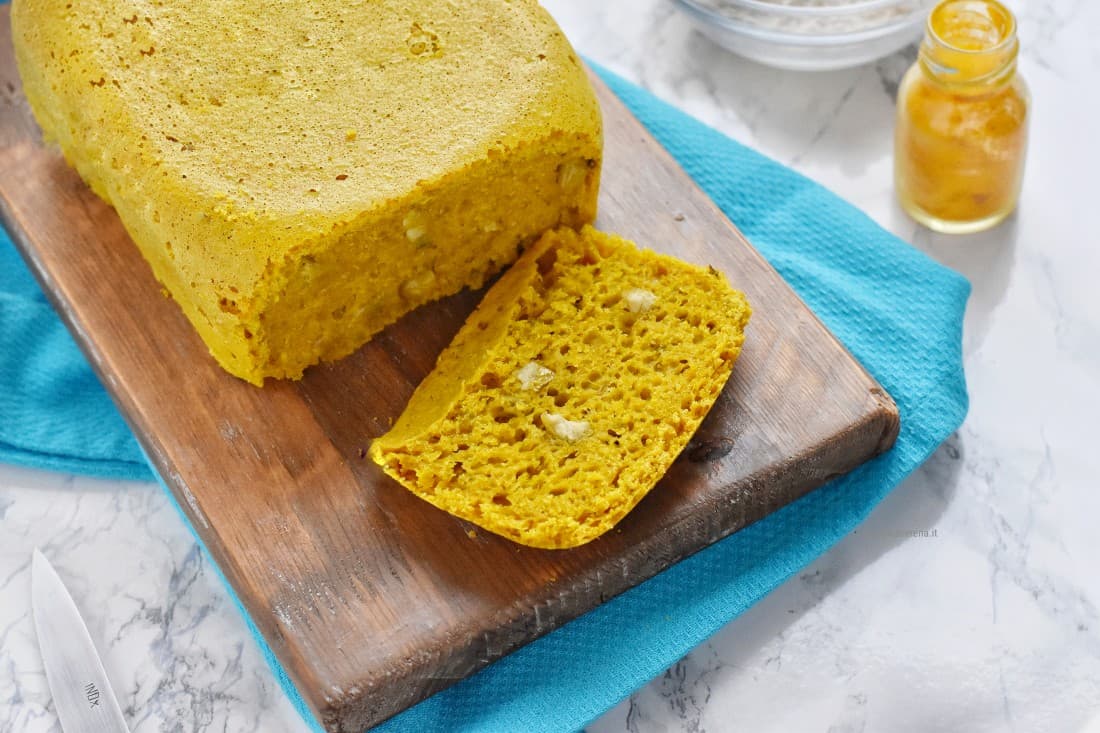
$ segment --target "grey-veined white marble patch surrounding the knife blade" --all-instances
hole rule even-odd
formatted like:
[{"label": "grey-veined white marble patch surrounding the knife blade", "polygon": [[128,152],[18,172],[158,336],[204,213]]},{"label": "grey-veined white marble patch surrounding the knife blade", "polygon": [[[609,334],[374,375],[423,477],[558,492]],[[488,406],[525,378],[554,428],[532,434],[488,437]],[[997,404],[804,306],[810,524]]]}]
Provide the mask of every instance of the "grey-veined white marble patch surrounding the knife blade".
[{"label": "grey-veined white marble patch surrounding the knife blade", "polygon": [[133,731],[297,732],[207,559],[155,485],[0,469],[0,731],[61,731],[30,613],[38,546]]}]

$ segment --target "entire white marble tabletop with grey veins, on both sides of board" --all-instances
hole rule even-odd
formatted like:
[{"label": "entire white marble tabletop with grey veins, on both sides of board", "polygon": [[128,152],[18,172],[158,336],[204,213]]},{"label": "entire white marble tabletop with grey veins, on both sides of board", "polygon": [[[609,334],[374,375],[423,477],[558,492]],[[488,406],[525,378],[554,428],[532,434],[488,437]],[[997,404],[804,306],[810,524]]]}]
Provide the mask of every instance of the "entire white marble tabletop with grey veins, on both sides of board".
[{"label": "entire white marble tabletop with grey veins, on both sides of board", "polygon": [[[806,75],[692,33],[664,0],[548,0],[575,45],[816,178],[969,276],[970,416],[858,532],[593,732],[1100,731],[1100,3],[1019,0],[1034,95],[1019,216],[921,230],[891,189],[911,58]],[[912,536],[920,533],[927,536]],[[29,608],[44,546],[135,731],[302,723],[152,485],[0,467],[0,732],[57,731]]]}]

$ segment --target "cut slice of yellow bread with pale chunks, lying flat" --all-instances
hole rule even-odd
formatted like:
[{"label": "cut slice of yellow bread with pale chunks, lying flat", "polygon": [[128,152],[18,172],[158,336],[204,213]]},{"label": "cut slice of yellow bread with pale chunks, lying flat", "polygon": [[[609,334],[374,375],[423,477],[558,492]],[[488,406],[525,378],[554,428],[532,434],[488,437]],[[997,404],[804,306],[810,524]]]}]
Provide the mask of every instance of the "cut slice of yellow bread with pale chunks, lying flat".
[{"label": "cut slice of yellow bread with pale chunks, lying flat", "polygon": [[716,270],[591,227],[548,232],[488,291],[371,457],[490,532],[581,545],[688,444],[749,314]]}]

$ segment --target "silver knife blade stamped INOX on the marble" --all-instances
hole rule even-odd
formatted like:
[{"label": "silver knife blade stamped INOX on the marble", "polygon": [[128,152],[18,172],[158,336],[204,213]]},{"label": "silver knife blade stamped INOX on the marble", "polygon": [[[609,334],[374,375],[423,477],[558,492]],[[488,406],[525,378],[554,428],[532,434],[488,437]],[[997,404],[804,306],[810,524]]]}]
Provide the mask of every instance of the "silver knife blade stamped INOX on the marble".
[{"label": "silver knife blade stamped INOX on the marble", "polygon": [[73,597],[37,549],[31,561],[31,608],[65,733],[130,733]]}]

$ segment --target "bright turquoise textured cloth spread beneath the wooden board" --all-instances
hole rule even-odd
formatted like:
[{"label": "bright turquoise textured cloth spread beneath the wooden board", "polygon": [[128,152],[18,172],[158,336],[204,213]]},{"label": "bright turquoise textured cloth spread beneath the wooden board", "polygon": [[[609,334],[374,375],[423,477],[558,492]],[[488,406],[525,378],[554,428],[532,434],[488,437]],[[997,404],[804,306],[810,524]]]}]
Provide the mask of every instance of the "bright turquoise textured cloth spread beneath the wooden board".
[{"label": "bright turquoise textured cloth spread beneath the wooden board", "polygon": [[[889,453],[397,715],[380,727],[387,733],[583,726],[848,534],[966,415],[960,344],[969,284],[961,276],[821,186],[602,74],[893,395],[901,435]],[[154,478],[2,232],[0,460]]]}]

